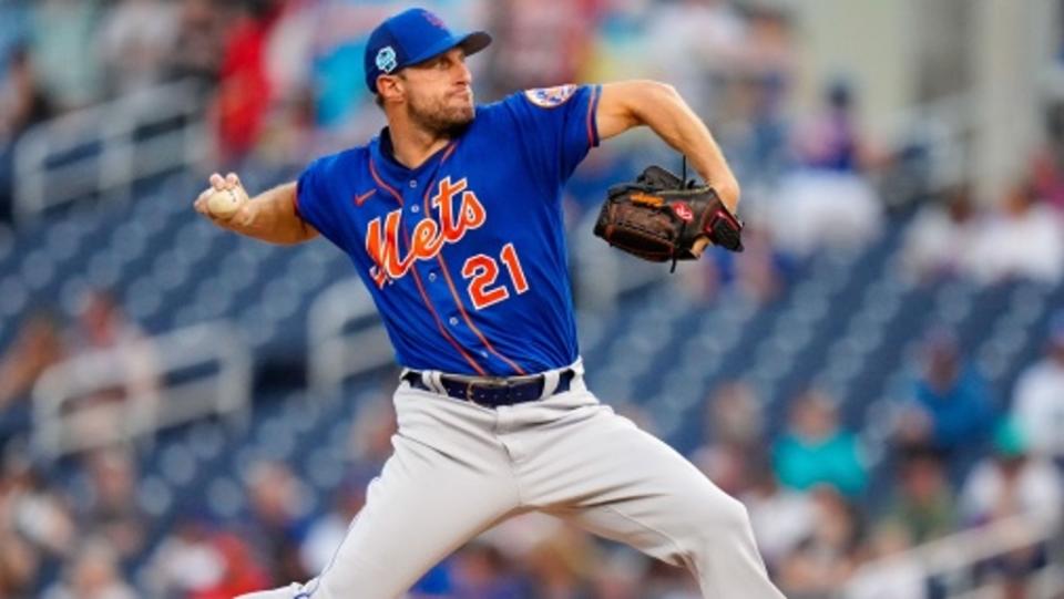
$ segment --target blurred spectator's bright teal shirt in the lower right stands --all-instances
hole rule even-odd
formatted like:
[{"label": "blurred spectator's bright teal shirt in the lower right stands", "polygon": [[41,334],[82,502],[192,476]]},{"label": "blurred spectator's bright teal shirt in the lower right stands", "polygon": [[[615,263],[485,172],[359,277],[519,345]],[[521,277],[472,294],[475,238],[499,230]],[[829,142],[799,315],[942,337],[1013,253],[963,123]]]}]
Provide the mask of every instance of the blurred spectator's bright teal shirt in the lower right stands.
[{"label": "blurred spectator's bright teal shirt in the lower right stands", "polygon": [[860,444],[842,431],[819,440],[787,434],[776,445],[774,465],[779,481],[799,490],[822,484],[855,497],[868,482]]}]

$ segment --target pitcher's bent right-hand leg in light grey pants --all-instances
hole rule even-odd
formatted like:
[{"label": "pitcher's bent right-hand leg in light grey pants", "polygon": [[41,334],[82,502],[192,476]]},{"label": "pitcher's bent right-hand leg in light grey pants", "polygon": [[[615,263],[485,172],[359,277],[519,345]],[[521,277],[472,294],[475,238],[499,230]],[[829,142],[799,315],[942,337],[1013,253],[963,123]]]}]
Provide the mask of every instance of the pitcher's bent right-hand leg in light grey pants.
[{"label": "pitcher's bent right-hand leg in light grey pants", "polygon": [[608,411],[567,433],[535,458],[545,512],[686,567],[706,597],[781,597],[746,508],[684,456]]}]

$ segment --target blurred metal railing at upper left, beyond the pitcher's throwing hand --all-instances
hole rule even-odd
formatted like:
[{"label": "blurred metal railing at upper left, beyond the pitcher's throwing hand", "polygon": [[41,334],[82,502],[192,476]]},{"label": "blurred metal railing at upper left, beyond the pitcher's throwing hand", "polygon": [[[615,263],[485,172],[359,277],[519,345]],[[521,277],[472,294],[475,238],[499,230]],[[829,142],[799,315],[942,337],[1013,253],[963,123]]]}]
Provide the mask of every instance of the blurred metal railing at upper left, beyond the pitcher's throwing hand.
[{"label": "blurred metal railing at upper left, beyond the pitcher's throwing hand", "polygon": [[29,130],[14,148],[16,219],[81,198],[124,200],[134,183],[197,164],[207,142],[202,95],[183,80]]}]

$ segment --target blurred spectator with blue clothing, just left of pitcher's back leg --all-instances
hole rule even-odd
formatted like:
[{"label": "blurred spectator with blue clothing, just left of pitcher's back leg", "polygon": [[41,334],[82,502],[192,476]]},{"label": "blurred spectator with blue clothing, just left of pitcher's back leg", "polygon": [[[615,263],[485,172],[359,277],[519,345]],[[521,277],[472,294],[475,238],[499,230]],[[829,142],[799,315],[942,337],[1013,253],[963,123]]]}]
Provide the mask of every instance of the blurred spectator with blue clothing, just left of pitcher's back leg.
[{"label": "blurred spectator with blue clothing, just left of pitcher's back leg", "polygon": [[285,464],[259,462],[250,471],[247,492],[252,506],[250,545],[273,582],[287,585],[309,579],[299,556],[304,526],[299,479]]}]

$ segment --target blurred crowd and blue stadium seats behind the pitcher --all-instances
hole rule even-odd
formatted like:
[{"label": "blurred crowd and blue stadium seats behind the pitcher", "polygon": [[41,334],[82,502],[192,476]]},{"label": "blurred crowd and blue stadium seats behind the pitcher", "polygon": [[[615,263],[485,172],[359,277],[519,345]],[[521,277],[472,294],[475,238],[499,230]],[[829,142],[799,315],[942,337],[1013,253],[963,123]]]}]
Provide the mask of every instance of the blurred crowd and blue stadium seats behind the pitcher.
[{"label": "blurred crowd and blue stadium seats behind the pitcher", "polygon": [[[390,453],[397,371],[318,384],[344,256],[191,205],[212,171],[264,186],[376,134],[362,48],[407,6],[0,0],[0,598],[227,598],[329,561]],[[672,277],[587,219],[675,153],[636,133],[577,171],[581,342],[603,401],[746,504],[788,597],[1064,597],[1064,3],[423,6],[494,34],[482,102],[653,78],[725,147],[748,249]],[[243,388],[176,391],[244,355],[158,337],[202,323],[246,348]],[[219,407],[157,416],[197,399]],[[411,593],[698,597],[535,516]]]}]

